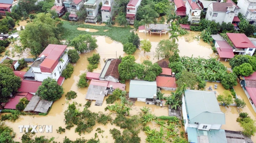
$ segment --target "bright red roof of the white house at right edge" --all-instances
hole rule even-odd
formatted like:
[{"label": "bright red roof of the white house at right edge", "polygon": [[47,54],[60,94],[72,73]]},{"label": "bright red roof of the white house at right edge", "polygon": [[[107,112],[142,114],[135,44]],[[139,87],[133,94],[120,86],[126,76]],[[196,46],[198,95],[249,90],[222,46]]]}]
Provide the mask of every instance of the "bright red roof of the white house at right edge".
[{"label": "bright red roof of the white house at right edge", "polygon": [[227,35],[237,48],[256,48],[245,34],[227,33]]}]

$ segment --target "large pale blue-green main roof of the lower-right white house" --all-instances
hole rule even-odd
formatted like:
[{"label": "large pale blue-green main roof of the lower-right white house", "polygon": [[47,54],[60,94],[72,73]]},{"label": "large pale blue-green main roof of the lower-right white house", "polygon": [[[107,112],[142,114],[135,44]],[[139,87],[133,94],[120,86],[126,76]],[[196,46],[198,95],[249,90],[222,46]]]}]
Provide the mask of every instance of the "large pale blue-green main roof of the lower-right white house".
[{"label": "large pale blue-green main roof of the lower-right white house", "polygon": [[225,124],[225,114],[220,111],[214,92],[186,90],[185,102],[190,124]]}]

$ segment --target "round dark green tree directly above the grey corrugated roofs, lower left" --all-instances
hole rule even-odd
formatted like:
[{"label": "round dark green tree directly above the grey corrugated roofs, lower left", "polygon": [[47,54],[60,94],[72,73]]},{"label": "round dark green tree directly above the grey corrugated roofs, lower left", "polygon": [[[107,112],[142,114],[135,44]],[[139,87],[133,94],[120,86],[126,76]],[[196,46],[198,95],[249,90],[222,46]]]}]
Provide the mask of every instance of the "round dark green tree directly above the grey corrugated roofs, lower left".
[{"label": "round dark green tree directly above the grey corrugated roofs, lower left", "polygon": [[62,86],[55,79],[49,77],[43,80],[36,92],[36,95],[47,101],[56,101],[61,98],[62,94],[64,94]]}]

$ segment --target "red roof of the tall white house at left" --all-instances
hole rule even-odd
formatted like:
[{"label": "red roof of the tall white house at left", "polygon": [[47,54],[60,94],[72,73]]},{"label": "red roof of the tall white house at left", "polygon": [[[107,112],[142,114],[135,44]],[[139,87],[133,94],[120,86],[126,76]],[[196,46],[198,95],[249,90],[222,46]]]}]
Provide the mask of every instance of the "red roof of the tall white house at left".
[{"label": "red roof of the tall white house at left", "polygon": [[39,56],[46,56],[46,58],[40,64],[41,71],[45,73],[52,73],[52,71],[58,65],[58,59],[60,58],[66,47],[66,45],[49,44]]}]

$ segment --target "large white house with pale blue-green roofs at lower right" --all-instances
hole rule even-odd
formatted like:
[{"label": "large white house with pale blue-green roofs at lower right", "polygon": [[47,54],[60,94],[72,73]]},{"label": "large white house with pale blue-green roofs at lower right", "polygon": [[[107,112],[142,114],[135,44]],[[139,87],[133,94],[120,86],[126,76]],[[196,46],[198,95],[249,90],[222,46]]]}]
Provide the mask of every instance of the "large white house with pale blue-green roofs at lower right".
[{"label": "large white house with pale blue-green roofs at lower right", "polygon": [[214,92],[186,90],[182,97],[182,114],[190,142],[216,138],[216,134],[217,137],[223,135],[226,138],[225,131],[220,129],[225,124],[225,114],[221,112]]}]

